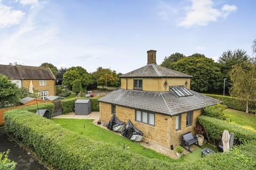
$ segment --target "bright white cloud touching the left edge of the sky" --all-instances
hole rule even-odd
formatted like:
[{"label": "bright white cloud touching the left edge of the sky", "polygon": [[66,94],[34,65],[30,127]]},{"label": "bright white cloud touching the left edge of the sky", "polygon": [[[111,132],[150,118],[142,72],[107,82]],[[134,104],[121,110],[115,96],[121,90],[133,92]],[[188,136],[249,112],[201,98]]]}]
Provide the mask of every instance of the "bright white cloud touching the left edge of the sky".
[{"label": "bright white cloud touching the left edge of the sky", "polygon": [[0,2],[0,28],[8,28],[19,24],[25,16],[20,10],[14,10],[10,6],[2,5]]}]

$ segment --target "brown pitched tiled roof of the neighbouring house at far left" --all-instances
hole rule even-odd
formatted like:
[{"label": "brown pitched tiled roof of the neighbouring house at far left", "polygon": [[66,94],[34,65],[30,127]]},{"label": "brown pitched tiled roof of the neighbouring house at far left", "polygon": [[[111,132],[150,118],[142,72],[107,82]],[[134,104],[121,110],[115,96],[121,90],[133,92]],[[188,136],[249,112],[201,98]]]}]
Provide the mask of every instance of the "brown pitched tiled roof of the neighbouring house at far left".
[{"label": "brown pitched tiled roof of the neighbouring house at far left", "polygon": [[55,79],[49,68],[25,66],[25,65],[0,65],[0,74],[9,79],[42,80]]}]

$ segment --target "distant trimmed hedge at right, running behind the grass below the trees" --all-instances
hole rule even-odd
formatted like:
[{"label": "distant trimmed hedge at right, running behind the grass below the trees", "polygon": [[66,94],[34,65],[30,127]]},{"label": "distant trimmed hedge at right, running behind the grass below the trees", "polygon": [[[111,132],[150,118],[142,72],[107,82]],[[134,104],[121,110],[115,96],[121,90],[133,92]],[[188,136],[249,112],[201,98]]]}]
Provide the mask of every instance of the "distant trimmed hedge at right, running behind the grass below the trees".
[{"label": "distant trimmed hedge at right, running behind the grass below the trees", "polygon": [[[206,96],[218,99],[223,101],[223,104],[226,105],[229,108],[238,110],[238,111],[246,111],[246,100],[236,97],[230,97],[230,96],[221,96],[221,95],[211,95],[211,94],[204,94]],[[253,101],[249,102],[249,111],[255,112],[256,110],[256,104]]]}]

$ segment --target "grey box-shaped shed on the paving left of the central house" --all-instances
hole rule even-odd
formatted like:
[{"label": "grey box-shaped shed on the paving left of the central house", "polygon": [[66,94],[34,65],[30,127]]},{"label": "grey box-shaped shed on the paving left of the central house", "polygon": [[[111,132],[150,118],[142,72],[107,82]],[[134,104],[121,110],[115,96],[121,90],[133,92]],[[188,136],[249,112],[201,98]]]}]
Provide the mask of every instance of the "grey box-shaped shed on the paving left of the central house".
[{"label": "grey box-shaped shed on the paving left of the central house", "polygon": [[75,101],[75,115],[89,115],[92,112],[90,99],[77,99]]}]

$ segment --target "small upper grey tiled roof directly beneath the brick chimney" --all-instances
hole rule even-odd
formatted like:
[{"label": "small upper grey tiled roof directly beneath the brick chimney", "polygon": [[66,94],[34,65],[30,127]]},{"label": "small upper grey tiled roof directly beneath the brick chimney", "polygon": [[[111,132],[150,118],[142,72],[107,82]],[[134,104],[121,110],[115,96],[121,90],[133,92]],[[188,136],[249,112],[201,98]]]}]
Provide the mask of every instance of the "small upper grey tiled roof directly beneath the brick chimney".
[{"label": "small upper grey tiled roof directly beneath the brick chimney", "polygon": [[165,67],[156,65],[156,64],[148,64],[139,69],[133,70],[129,73],[123,74],[120,76],[121,78],[193,78],[191,75],[184,74],[175,70],[167,69]]}]

